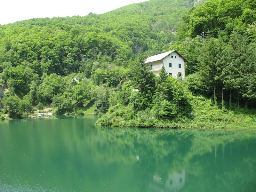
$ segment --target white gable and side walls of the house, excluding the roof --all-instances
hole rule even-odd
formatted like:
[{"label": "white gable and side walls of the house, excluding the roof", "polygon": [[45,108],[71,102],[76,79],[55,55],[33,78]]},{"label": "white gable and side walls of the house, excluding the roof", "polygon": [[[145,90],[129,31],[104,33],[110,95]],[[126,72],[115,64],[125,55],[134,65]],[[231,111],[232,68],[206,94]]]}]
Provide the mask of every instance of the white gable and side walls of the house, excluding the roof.
[{"label": "white gable and side walls of the house, excluding the roof", "polygon": [[[175,58],[176,56],[176,58]],[[172,67],[169,67],[169,63],[172,63]],[[179,68],[179,63],[181,64],[181,68]],[[170,55],[166,56],[162,60],[153,61],[148,63],[150,67],[152,65],[152,72],[159,75],[159,72],[164,65],[164,68],[168,75],[171,73],[173,77],[178,78],[178,73],[181,73],[182,80],[185,79],[185,64],[184,59],[176,52],[172,52]]]}]

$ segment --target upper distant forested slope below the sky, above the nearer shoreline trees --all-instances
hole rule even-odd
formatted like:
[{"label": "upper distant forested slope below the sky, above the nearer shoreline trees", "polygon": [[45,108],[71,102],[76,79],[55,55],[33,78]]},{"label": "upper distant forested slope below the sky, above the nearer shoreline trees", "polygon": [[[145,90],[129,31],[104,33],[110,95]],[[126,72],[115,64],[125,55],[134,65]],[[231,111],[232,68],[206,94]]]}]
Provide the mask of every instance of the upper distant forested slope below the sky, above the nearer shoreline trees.
[{"label": "upper distant forested slope below the sky, above the nearer shoreline trees", "polygon": [[[169,49],[193,0],[152,0],[96,15],[31,19],[0,26],[0,62],[43,73],[83,72],[100,55],[121,65],[139,51]],[[3,68],[3,67],[2,67]]]}]

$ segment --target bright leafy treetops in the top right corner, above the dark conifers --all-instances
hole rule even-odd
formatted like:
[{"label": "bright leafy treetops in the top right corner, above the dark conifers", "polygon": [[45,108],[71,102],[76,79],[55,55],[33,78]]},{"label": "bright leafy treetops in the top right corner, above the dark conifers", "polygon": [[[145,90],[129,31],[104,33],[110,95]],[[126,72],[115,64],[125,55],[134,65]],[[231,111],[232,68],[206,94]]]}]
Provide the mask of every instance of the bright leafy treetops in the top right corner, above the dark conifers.
[{"label": "bright leafy treetops in the top right corner, above the dark conifers", "polygon": [[256,20],[255,3],[251,0],[209,0],[185,16],[187,35],[195,37],[205,32],[218,36],[233,30],[242,32]]}]

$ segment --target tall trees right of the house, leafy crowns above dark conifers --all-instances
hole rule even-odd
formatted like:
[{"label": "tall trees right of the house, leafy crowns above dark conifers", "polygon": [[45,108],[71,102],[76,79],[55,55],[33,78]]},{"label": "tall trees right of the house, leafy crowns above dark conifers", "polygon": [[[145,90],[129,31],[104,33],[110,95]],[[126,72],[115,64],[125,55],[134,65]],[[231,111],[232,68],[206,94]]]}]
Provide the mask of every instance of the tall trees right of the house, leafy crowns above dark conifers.
[{"label": "tall trees right of the house, leafy crowns above dark conifers", "polygon": [[[205,41],[201,36],[205,33]],[[191,90],[255,107],[256,1],[210,0],[184,16],[176,45]],[[222,89],[224,93],[221,94]],[[215,101],[216,102],[216,101]]]}]

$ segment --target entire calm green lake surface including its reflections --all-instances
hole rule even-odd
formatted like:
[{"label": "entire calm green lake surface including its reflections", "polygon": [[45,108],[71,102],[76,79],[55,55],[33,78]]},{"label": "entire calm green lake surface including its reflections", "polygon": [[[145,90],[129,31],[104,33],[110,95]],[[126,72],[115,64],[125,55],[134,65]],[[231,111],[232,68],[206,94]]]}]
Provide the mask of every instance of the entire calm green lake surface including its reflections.
[{"label": "entire calm green lake surface including its reflections", "polygon": [[95,121],[0,123],[0,191],[256,191],[256,130],[108,128]]}]

